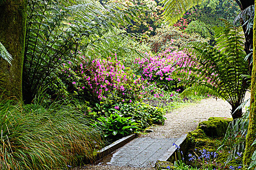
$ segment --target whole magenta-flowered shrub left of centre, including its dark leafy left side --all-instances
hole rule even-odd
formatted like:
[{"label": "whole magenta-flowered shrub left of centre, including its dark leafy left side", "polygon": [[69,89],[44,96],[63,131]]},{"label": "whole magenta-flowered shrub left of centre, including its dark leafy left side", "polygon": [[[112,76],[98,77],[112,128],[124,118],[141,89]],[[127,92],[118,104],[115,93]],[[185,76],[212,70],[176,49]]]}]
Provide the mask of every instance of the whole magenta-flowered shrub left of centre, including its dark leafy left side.
[{"label": "whole magenta-flowered shrub left of centre, including its dark leafy left side", "polygon": [[63,63],[61,73],[56,79],[63,98],[76,95],[90,102],[127,102],[140,100],[140,90],[146,85],[141,76],[133,74],[132,70],[116,59],[94,59],[74,65]]}]

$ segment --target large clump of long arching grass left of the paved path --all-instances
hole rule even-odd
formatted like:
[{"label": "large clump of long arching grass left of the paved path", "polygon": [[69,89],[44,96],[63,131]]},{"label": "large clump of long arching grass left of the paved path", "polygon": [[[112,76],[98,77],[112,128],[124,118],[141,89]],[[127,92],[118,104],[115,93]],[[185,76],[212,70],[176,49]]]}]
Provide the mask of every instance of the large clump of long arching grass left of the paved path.
[{"label": "large clump of long arching grass left of the paved path", "polygon": [[0,101],[0,169],[63,170],[92,159],[101,136],[69,113],[58,104]]}]

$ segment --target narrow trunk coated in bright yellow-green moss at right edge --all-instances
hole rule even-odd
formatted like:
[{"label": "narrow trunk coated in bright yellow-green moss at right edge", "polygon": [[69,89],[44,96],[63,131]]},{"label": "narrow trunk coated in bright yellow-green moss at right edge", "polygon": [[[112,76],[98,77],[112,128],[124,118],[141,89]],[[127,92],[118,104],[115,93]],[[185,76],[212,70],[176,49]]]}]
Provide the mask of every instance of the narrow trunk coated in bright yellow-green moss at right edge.
[{"label": "narrow trunk coated in bright yellow-green moss at right edge", "polygon": [[[255,0],[256,1],[256,0]],[[253,72],[252,72],[252,86],[251,86],[251,105],[250,105],[250,117],[248,134],[246,136],[246,147],[243,155],[243,164],[245,168],[250,165],[252,161],[251,157],[256,150],[256,146],[252,147],[252,144],[256,138],[256,17],[254,17],[254,43],[253,43]]]}]

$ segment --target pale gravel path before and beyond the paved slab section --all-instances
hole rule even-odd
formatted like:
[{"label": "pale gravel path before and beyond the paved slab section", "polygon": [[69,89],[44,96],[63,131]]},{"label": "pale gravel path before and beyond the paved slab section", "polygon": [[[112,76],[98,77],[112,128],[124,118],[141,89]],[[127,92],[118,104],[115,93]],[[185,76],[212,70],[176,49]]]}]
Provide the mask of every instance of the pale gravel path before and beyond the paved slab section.
[{"label": "pale gravel path before and beyond the paved slab section", "polygon": [[[250,94],[246,95],[248,99]],[[164,125],[152,126],[152,132],[140,137],[171,138],[180,137],[183,134],[196,129],[199,122],[208,120],[210,117],[232,118],[231,106],[221,99],[208,98],[200,102],[184,105],[172,110],[165,115],[167,118]],[[114,166],[87,165],[75,170],[154,170],[153,168],[131,168]]]}]

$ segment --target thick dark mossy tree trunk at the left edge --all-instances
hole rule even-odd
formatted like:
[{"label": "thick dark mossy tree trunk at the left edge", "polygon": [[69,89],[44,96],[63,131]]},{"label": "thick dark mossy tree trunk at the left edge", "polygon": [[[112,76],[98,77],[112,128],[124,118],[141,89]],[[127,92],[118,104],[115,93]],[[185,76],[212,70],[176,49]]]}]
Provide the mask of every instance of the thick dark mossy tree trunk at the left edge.
[{"label": "thick dark mossy tree trunk at the left edge", "polygon": [[0,95],[21,95],[26,31],[26,0],[0,0],[0,42],[12,55],[12,65],[0,58]]}]

